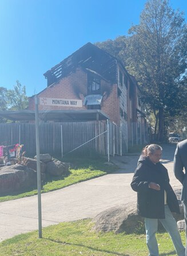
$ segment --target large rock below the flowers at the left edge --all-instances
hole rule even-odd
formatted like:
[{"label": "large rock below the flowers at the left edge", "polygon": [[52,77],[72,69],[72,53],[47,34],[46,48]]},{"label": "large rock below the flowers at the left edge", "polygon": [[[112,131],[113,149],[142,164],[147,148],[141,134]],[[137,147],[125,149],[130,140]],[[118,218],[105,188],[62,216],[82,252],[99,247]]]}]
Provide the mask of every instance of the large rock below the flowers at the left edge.
[{"label": "large rock below the flowers at the left edge", "polygon": [[37,172],[24,165],[10,165],[0,169],[0,193],[37,187]]}]

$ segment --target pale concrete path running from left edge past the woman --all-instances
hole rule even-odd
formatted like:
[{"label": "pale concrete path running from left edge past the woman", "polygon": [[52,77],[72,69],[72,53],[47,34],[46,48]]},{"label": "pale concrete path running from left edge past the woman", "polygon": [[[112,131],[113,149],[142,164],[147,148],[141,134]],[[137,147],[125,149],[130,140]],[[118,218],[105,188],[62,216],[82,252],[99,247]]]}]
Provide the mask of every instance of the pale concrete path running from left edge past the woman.
[{"label": "pale concrete path running from left edge past the woman", "polygon": [[[163,147],[162,162],[173,187],[181,187],[173,174],[176,143]],[[42,194],[42,227],[93,218],[106,208],[136,200],[130,188],[139,155],[111,157],[118,172]],[[0,241],[38,229],[37,196],[0,203]]]}]

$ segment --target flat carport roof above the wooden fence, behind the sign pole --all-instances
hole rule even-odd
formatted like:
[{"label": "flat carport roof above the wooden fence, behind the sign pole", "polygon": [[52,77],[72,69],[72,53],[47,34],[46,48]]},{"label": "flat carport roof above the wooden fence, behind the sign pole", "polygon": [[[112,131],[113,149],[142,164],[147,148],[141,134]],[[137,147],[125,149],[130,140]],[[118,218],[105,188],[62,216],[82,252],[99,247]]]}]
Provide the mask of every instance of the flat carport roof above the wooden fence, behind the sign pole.
[{"label": "flat carport roof above the wooden fence, behind the sign pole", "polygon": [[[34,121],[34,110],[0,111],[0,117],[12,121]],[[85,122],[109,119],[101,110],[42,110],[39,119],[55,122]]]}]

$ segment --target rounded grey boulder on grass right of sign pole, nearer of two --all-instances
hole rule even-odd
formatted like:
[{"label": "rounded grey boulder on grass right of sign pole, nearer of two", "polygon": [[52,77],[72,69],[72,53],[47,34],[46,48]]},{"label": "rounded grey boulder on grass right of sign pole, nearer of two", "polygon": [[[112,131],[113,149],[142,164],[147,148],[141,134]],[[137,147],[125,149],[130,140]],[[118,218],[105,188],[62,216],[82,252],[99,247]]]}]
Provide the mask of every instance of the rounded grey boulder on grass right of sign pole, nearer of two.
[{"label": "rounded grey boulder on grass right of sign pole, nearer of two", "polygon": [[51,162],[47,162],[46,164],[46,173],[49,173],[52,176],[67,176],[70,173],[69,164],[53,158]]}]

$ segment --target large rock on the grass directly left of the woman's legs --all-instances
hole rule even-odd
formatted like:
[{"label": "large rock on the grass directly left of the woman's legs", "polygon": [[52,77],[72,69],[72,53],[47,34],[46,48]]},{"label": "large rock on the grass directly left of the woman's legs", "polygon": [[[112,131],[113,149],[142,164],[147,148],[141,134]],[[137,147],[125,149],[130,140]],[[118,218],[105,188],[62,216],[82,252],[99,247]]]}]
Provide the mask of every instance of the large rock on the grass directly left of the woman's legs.
[{"label": "large rock on the grass directly left of the woman's legs", "polygon": [[93,219],[93,222],[93,230],[96,231],[114,231],[116,233],[125,231],[126,234],[130,234],[138,232],[144,219],[137,215],[136,202],[130,202],[101,212]]}]

